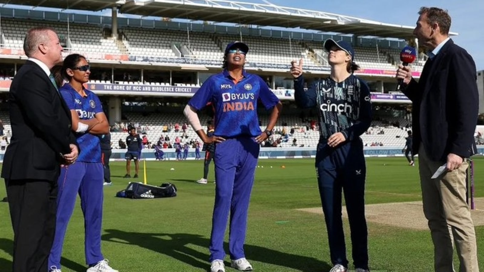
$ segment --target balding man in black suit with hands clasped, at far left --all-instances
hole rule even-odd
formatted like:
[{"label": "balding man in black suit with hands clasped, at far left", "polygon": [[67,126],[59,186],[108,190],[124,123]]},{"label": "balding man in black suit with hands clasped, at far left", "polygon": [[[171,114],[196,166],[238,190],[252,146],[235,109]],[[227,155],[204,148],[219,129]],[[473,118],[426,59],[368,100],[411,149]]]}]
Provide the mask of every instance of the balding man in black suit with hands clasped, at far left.
[{"label": "balding man in black suit with hands clasped, at far left", "polygon": [[56,223],[57,179],[61,165],[78,155],[71,113],[50,69],[62,61],[62,46],[50,28],[27,32],[29,60],[9,92],[11,143],[5,152],[5,179],[14,228],[14,272],[46,272]]}]

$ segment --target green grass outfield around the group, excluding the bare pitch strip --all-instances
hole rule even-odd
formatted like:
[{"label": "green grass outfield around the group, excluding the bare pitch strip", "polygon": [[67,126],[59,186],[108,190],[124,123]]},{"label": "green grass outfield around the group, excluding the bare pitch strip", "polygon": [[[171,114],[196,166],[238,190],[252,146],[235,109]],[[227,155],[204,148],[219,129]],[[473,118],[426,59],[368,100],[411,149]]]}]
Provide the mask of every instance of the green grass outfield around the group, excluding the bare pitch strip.
[{"label": "green grass outfield around the group, excluding the bare pitch strip", "polygon": [[[483,164],[484,158],[475,159],[476,196],[484,196]],[[168,181],[178,188],[177,197],[162,199],[114,197],[125,189],[128,181],[134,180],[121,178],[125,173],[123,162],[111,165],[114,185],[104,188],[102,236],[103,253],[110,264],[121,272],[207,271],[215,185],[194,182],[202,175],[203,161],[147,162],[150,184]],[[259,165],[264,168],[256,171],[245,246],[246,257],[255,271],[329,271],[323,217],[295,211],[321,205],[314,159],[260,160]],[[281,168],[282,165],[286,168]],[[171,167],[175,170],[170,171]],[[213,181],[211,167],[209,181]],[[421,199],[418,167],[408,166],[405,158],[368,158],[367,168],[367,204]],[[5,196],[3,185],[0,196]],[[348,221],[344,222],[351,265],[349,227]],[[433,245],[428,230],[371,222],[368,228],[373,272],[433,271]],[[483,270],[484,227],[476,227],[476,232]],[[12,239],[8,205],[0,202],[0,272],[11,272]],[[227,256],[226,265],[228,259]],[[67,230],[61,263],[62,272],[86,271],[84,223],[79,205]],[[230,271],[235,270],[227,268]]]}]

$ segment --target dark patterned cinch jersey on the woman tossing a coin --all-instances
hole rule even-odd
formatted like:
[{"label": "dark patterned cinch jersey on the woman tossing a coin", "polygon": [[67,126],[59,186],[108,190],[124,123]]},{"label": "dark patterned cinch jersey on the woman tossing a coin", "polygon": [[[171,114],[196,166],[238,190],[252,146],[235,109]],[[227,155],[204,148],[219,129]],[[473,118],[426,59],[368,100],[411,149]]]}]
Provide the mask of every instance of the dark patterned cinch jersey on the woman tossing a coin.
[{"label": "dark patterned cinch jersey on the woman tossing a coin", "polygon": [[304,91],[304,78],[294,80],[294,99],[301,107],[318,107],[320,140],[341,132],[357,139],[371,124],[371,97],[366,83],[350,75],[343,82],[331,77],[315,81]]}]

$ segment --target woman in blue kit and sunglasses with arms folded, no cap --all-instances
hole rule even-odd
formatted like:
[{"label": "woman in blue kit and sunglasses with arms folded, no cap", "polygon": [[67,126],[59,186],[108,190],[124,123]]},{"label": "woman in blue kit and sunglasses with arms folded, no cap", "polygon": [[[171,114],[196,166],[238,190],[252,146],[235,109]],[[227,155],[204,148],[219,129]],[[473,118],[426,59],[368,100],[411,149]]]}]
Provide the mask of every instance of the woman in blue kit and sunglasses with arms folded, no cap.
[{"label": "woman in blue kit and sunglasses with arms folded, no cap", "polygon": [[72,130],[76,132],[81,153],[76,164],[61,168],[57,196],[57,222],[54,244],[49,256],[49,271],[61,272],[64,236],[74,211],[76,195],[84,213],[87,272],[118,272],[101,253],[104,168],[99,136],[109,133],[109,124],[97,95],[84,88],[91,67],[86,58],[72,54],[65,58],[61,76],[68,80],[59,92],[71,111]]}]

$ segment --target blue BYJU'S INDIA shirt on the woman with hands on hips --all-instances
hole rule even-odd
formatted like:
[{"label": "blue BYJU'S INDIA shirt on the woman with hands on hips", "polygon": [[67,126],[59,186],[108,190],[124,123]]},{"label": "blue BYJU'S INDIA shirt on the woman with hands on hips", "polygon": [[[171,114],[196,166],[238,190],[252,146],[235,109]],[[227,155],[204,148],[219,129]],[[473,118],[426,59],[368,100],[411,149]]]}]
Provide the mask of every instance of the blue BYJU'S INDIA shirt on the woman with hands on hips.
[{"label": "blue BYJU'S INDIA shirt on the woman with hands on hips", "polygon": [[262,131],[257,118],[257,100],[266,109],[279,103],[260,76],[242,71],[241,81],[234,83],[227,70],[210,76],[190,99],[188,105],[200,110],[212,102],[215,115],[215,136],[259,136]]}]

